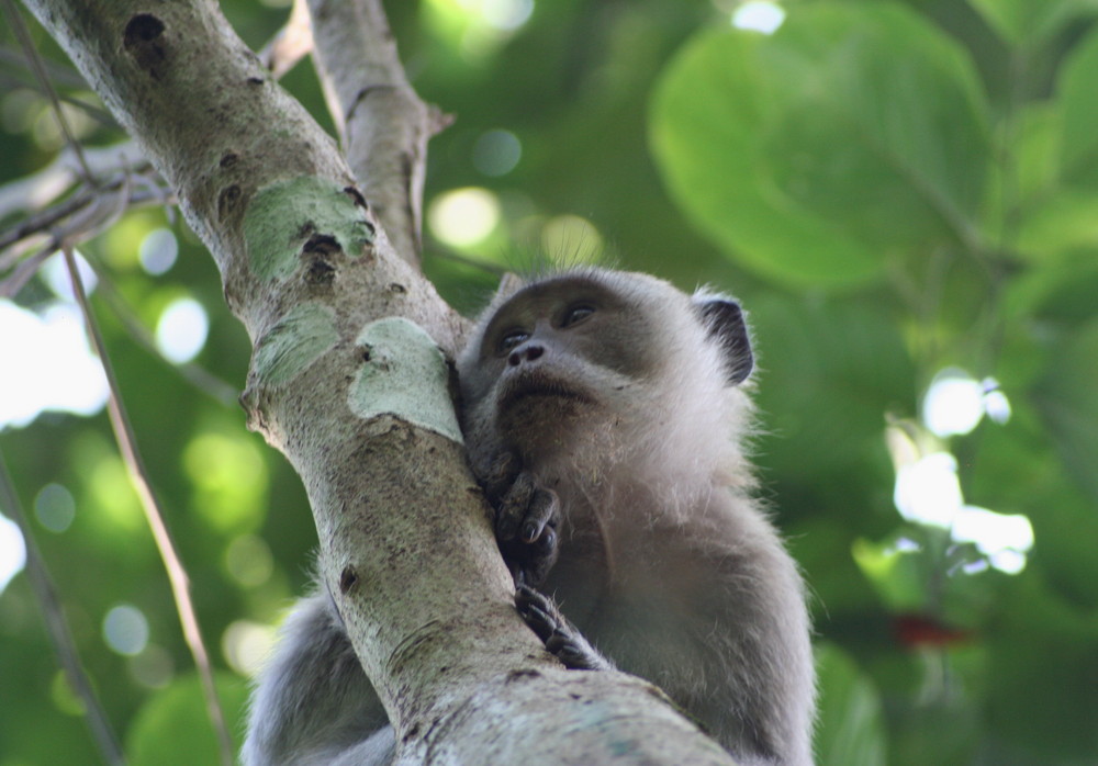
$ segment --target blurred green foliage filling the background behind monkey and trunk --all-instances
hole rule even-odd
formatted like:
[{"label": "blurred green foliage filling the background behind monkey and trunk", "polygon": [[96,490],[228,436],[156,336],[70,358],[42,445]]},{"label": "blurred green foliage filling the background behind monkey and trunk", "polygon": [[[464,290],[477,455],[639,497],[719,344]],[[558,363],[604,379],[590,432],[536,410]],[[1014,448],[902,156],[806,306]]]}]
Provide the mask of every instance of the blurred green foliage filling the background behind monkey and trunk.
[{"label": "blurred green foliage filling the background behind monkey and trunk", "polygon": [[[257,48],[287,13],[221,4]],[[820,763],[1098,763],[1098,5],[788,0],[772,35],[730,25],[736,0],[389,5],[415,87],[458,117],[432,143],[428,212],[444,221],[448,193],[477,190],[449,196],[481,216],[477,237],[427,232],[425,268],[456,306],[473,311],[495,280],[470,260],[498,266],[517,243],[601,249],[750,311],[757,460],[813,592]],[[7,30],[0,45],[14,49]],[[7,182],[60,139],[25,70],[0,76]],[[283,85],[330,127],[307,61]],[[88,145],[121,138],[71,114]],[[137,252],[164,226],[180,251],[154,278]],[[85,254],[149,328],[173,298],[199,301],[210,335],[195,362],[242,384],[247,338],[184,227],[143,211]],[[35,280],[16,302],[54,300]],[[307,579],[304,493],[238,408],[137,345],[102,290],[93,302],[239,720],[264,627]],[[1011,418],[930,435],[922,396],[951,367],[994,378]],[[989,567],[897,514],[886,427],[953,454],[966,502],[1029,517],[1024,568]],[[105,416],[46,413],[0,449],[134,763],[209,763]],[[51,520],[69,505],[71,523]],[[148,621],[134,656],[104,638],[120,604]],[[0,766],[98,762],[24,576],[0,595]]]}]

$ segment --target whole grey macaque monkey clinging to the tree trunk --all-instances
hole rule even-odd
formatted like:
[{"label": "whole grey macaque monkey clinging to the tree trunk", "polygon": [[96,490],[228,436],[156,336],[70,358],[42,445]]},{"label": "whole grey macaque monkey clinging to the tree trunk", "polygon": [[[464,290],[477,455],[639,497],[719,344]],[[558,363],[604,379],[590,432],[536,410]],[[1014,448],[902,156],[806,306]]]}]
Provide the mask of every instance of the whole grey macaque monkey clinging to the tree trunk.
[{"label": "whole grey macaque monkey clinging to the tree trunk", "polygon": [[[653,681],[741,766],[809,766],[804,588],[741,447],[752,367],[728,297],[604,269],[505,280],[458,360],[462,428],[550,652]],[[303,600],[244,763],[385,764],[392,747],[330,599]]]}]

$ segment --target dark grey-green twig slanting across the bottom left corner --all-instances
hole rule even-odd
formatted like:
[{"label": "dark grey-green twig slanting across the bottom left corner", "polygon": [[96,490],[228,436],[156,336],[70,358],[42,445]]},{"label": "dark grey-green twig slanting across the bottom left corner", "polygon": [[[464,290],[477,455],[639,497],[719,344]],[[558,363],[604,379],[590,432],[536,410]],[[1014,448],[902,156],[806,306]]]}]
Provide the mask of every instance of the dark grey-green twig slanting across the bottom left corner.
[{"label": "dark grey-green twig slanting across the bottom left corner", "polygon": [[57,597],[57,588],[46,570],[46,562],[42,557],[42,551],[31,536],[31,525],[27,523],[26,514],[23,512],[23,505],[19,502],[15,493],[15,485],[11,481],[8,465],[4,463],[3,454],[0,453],[0,507],[15,521],[23,542],[26,545],[26,579],[31,584],[35,598],[42,605],[42,617],[46,622],[46,634],[49,643],[53,644],[57,654],[57,662],[65,671],[69,686],[72,691],[83,702],[85,720],[91,736],[96,741],[103,761],[113,766],[123,766],[126,762],[122,754],[122,746],[114,735],[111,722],[107,718],[107,711],[96,697],[96,690],[88,679],[88,674],[80,663],[80,655],[76,650],[76,642],[72,640],[72,631],[69,630],[68,620],[65,619],[65,611],[61,609],[60,599]]}]

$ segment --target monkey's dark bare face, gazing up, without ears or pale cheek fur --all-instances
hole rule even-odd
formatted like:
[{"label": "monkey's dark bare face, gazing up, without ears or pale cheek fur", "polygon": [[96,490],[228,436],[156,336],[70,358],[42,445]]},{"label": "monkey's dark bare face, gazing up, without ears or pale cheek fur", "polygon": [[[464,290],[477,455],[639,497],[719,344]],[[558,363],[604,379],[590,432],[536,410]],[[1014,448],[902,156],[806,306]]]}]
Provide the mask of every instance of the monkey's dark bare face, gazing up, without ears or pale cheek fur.
[{"label": "monkey's dark bare face, gazing up, without ears or pale cheek fur", "polygon": [[648,314],[586,274],[519,291],[461,370],[467,410],[491,419],[504,443],[540,455],[605,433],[634,416],[654,367]]}]

